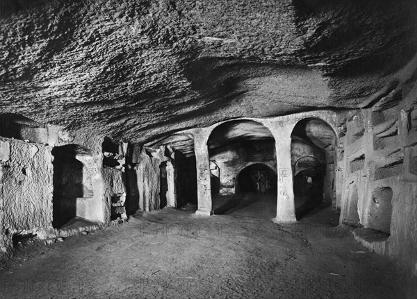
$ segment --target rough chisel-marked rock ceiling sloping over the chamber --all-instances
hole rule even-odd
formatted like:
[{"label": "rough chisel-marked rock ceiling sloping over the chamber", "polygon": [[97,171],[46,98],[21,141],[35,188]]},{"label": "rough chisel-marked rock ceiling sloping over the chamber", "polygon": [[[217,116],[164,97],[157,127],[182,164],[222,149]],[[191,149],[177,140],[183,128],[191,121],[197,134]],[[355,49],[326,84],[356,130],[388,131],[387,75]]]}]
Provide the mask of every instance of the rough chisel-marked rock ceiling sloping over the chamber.
[{"label": "rough chisel-marked rock ceiling sloping over the chamber", "polygon": [[[130,142],[360,108],[415,75],[415,1],[2,1],[0,105]],[[406,71],[400,71],[401,69]]]}]

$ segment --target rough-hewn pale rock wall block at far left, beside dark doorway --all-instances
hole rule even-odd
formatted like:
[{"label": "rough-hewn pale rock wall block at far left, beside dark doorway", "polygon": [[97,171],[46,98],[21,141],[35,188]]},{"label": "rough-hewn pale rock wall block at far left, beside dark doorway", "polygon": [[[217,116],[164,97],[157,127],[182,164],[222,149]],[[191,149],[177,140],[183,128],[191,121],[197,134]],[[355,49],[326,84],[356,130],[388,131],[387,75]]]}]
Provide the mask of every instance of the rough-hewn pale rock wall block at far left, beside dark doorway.
[{"label": "rough-hewn pale rock wall block at far left, beside dark doorway", "polygon": [[1,139],[3,244],[10,248],[16,233],[51,228],[53,167],[51,147]]}]

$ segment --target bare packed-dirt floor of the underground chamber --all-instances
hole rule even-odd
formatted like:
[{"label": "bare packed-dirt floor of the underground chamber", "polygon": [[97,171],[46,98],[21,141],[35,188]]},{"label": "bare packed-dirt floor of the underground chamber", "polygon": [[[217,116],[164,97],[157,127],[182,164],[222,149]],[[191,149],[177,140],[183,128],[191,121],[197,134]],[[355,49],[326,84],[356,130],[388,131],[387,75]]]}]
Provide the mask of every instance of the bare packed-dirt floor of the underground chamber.
[{"label": "bare packed-dirt floor of the underground chamber", "polygon": [[417,298],[416,277],[354,241],[329,207],[277,225],[275,196],[245,194],[222,212],[166,208],[22,241],[1,264],[0,298]]}]

